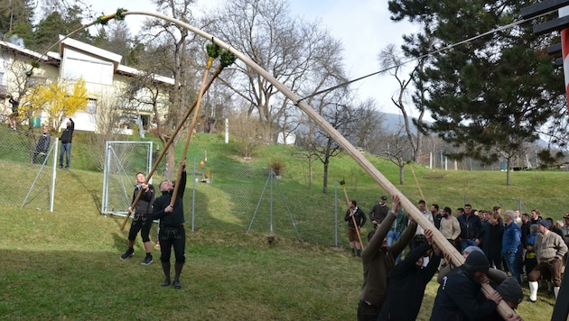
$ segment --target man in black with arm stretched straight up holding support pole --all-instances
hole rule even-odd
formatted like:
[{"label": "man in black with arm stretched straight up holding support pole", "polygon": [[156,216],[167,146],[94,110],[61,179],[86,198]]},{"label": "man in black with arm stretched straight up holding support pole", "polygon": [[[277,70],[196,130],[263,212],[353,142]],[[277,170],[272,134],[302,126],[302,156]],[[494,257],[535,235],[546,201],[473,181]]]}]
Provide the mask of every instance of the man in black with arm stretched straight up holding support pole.
[{"label": "man in black with arm stretched straight up holding support pole", "polygon": [[176,184],[179,184],[178,193],[172,203],[173,182],[164,180],[160,183],[160,191],[162,196],[154,200],[153,219],[160,219],[160,261],[162,262],[162,270],[164,272],[164,281],[160,284],[163,287],[170,285],[170,256],[172,248],[174,249],[174,280],[173,287],[175,289],[182,288],[180,284],[180,274],[182,273],[183,263],[186,261],[186,231],[183,227],[185,220],[183,217],[183,192],[186,188],[186,162],[182,161],[182,178]]}]

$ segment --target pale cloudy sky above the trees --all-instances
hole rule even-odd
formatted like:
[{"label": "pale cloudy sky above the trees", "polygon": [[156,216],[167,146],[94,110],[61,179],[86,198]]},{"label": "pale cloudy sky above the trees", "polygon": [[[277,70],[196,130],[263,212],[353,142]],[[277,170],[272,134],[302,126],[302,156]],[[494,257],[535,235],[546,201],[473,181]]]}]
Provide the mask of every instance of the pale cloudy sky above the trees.
[{"label": "pale cloudy sky above the trees", "polygon": [[[98,14],[109,14],[117,8],[129,11],[155,12],[150,0],[87,0]],[[211,8],[223,0],[199,0],[204,8]],[[389,19],[387,1],[378,0],[289,0],[294,15],[305,20],[320,19],[322,27],[343,42],[344,63],[351,79],[360,78],[379,70],[378,53],[390,43],[401,44],[401,36],[413,32],[409,23],[393,23]],[[98,16],[98,15],[97,15]],[[145,17],[128,15],[133,34]],[[374,98],[378,108],[386,113],[399,114],[390,97],[396,95],[394,78],[372,76],[351,85],[358,90],[360,100]],[[415,111],[408,111],[415,115]]]}]

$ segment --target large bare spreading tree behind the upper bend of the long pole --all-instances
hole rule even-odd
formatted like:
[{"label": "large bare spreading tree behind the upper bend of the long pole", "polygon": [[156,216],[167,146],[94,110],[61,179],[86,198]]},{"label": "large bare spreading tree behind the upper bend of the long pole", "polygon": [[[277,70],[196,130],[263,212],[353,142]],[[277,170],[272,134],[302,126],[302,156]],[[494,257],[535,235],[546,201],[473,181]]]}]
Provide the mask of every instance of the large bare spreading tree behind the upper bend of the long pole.
[{"label": "large bare spreading tree behind the upper bend of the long pole", "polygon": [[[334,69],[338,66],[338,41],[317,23],[292,18],[284,0],[226,2],[208,16],[206,28],[212,34],[243,52],[293,91],[312,94],[312,89],[307,88],[316,87],[322,78],[343,77],[343,72],[322,69],[325,62],[330,62]],[[250,115],[257,114],[268,125],[268,135],[272,137],[274,131],[287,129],[291,121],[298,122],[291,103],[266,79],[243,64],[238,64],[236,71],[225,84],[248,102]]]}]

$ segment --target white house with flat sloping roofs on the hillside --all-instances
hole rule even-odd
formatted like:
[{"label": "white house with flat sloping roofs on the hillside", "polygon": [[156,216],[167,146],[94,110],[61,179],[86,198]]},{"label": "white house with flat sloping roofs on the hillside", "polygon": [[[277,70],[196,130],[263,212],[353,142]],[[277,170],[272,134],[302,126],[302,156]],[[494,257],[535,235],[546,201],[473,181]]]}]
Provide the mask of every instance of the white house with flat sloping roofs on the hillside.
[{"label": "white house with flat sloping roofs on the hillside", "polygon": [[[50,82],[58,78],[70,82],[79,78],[85,80],[89,99],[85,108],[72,117],[75,129],[98,132],[96,115],[101,113],[100,108],[106,105],[103,102],[109,99],[114,102],[113,104],[118,104],[119,100],[115,98],[120,94],[121,88],[126,86],[129,78],[142,74],[142,71],[121,65],[122,56],[116,53],[70,38],[64,39],[63,36],[60,36],[60,40],[58,51],[49,51],[45,55],[10,42],[0,41],[0,95],[22,92],[22,74],[33,69],[33,61],[39,61],[41,66],[39,69],[33,69],[33,76],[29,81],[32,84]],[[154,76],[154,80],[166,86],[174,84],[173,78]],[[144,92],[138,95],[141,95],[142,99],[137,101],[144,101]],[[163,101],[167,101],[166,97]],[[5,99],[3,108],[5,113],[6,106]],[[147,104],[129,102],[126,105],[112,107],[122,113],[121,129],[125,130],[124,133],[132,133],[132,130],[129,131],[129,126],[133,123],[141,125],[140,127],[145,130],[148,130],[152,124],[154,111]],[[46,115],[40,117],[42,122],[47,119]]]}]

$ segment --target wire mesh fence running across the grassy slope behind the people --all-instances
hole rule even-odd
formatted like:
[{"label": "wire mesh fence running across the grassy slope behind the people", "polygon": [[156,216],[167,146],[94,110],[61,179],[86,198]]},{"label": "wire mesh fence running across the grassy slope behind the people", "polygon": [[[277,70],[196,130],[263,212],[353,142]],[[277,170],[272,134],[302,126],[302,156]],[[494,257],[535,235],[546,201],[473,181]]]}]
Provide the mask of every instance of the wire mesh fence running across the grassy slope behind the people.
[{"label": "wire mesh fence running across the grassy slope behind the people", "polygon": [[[0,140],[0,174],[5,184],[18,183],[14,188],[5,186],[11,191],[0,193],[0,204],[49,210],[51,198],[58,199],[57,190],[54,195],[52,188],[57,178],[55,169],[59,159],[56,155],[57,140],[52,138],[50,150],[46,155],[36,155],[38,159],[34,162],[40,133],[30,135],[1,127],[0,134],[3,137]],[[152,160],[156,159],[152,147],[149,151],[144,150],[117,151],[114,156],[117,159],[116,170],[125,172],[123,178],[117,179],[119,188],[108,192],[109,197],[122,199],[122,203],[110,206],[117,212],[126,212],[130,205],[135,173],[148,171],[148,153],[153,154]],[[268,167],[220,159],[206,161],[197,155],[188,155],[187,170],[184,207],[186,223],[193,230],[227,229],[237,233],[276,234],[331,246],[346,246],[348,243],[344,222],[347,204],[337,181],[332,180],[334,187],[330,187],[328,194],[322,194],[321,190],[308,188],[303,182],[288,179],[286,175],[278,179]],[[159,195],[157,185],[154,181]],[[375,193],[360,194],[353,189],[350,194],[366,214],[378,201],[378,195],[371,196]],[[417,200],[415,197],[411,199],[412,202]],[[554,218],[563,216],[569,209],[569,200],[564,197],[524,199],[515,195],[473,197],[457,194],[453,198],[446,197],[445,202],[427,199],[427,203],[450,206],[453,213],[467,203],[476,209],[491,210],[492,206],[501,206],[503,209],[519,209],[522,213],[538,208],[544,217]],[[58,210],[60,208],[55,208]],[[317,216],[316,220],[314,216]]]}]

